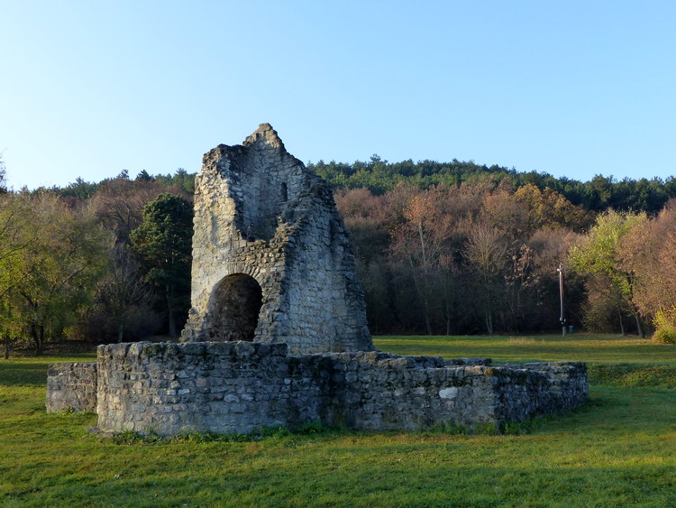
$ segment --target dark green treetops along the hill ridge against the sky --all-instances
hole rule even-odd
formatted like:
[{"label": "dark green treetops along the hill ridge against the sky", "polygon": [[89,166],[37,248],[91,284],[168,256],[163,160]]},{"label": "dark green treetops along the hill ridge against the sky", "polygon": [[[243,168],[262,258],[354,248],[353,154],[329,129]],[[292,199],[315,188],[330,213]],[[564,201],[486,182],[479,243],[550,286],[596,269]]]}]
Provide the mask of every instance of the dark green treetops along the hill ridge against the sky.
[{"label": "dark green treetops along the hill ridge against the sky", "polygon": [[[516,171],[515,168],[485,164],[473,161],[451,162],[418,161],[411,159],[402,162],[388,162],[374,154],[368,162],[310,162],[307,168],[338,189],[369,189],[375,195],[381,195],[394,189],[400,181],[406,181],[421,189],[434,185],[460,186],[480,184],[487,189],[534,186],[545,192],[551,189],[568,199],[573,205],[588,211],[601,212],[607,208],[621,211],[658,213],[671,198],[676,198],[676,178],[638,180],[616,180],[612,176],[596,175],[589,181],[572,180],[567,177],[556,178],[546,172]],[[173,174],[151,175],[140,171],[135,181],[155,181],[166,187],[178,187],[187,194],[195,193],[196,173],[178,168]],[[89,199],[106,181],[130,180],[129,171],[123,170],[112,179],[98,183],[87,182],[81,178],[66,187],[52,187],[50,190],[63,197]],[[0,161],[0,189],[4,185],[4,166]],[[35,191],[44,190],[36,189]],[[2,191],[2,190],[0,190]]]}]

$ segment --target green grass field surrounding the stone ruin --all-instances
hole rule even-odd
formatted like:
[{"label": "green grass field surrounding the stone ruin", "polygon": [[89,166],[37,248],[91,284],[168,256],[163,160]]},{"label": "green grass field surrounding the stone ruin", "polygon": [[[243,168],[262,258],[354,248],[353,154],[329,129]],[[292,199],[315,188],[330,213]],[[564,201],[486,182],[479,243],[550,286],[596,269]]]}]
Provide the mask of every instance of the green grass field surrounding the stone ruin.
[{"label": "green grass field surrounding the stone ruin", "polygon": [[[407,355],[569,359],[590,401],[522,435],[278,432],[115,444],[44,411],[46,367],[0,360],[0,505],[676,505],[676,346],[617,337],[378,337]],[[93,356],[91,356],[93,357]]]}]

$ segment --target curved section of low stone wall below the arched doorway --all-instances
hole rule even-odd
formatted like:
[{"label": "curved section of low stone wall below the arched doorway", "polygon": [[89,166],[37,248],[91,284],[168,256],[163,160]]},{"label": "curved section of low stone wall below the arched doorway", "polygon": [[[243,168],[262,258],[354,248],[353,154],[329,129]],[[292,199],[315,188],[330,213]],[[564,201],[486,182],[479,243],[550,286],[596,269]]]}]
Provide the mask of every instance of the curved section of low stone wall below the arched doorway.
[{"label": "curved section of low stone wall below the arched doorway", "polygon": [[286,350],[251,342],[99,346],[98,428],[243,433],[318,420],[322,376],[299,374],[302,361],[290,376]]}]

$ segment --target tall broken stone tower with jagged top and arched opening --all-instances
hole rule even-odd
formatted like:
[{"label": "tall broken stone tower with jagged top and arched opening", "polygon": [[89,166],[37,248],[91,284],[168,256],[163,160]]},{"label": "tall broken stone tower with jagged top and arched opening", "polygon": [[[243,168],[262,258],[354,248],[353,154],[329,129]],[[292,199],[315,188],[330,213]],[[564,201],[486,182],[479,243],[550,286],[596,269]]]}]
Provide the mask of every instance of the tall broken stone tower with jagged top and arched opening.
[{"label": "tall broken stone tower with jagged top and arched opening", "polygon": [[292,353],[373,349],[332,190],[268,124],[242,145],[206,153],[192,271],[183,341],[286,343]]}]

